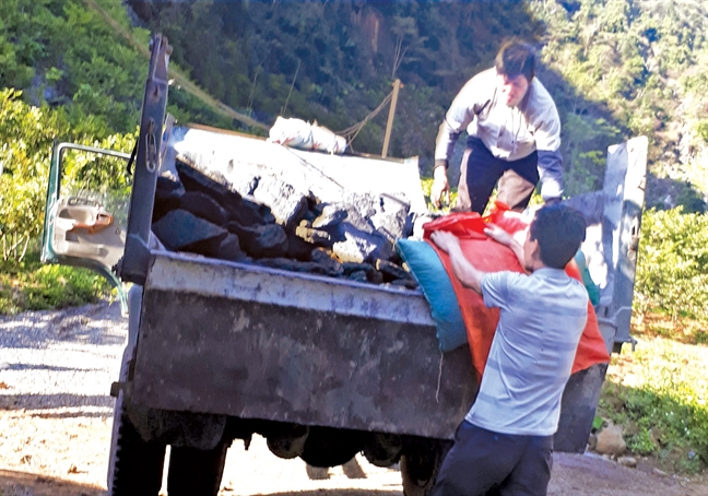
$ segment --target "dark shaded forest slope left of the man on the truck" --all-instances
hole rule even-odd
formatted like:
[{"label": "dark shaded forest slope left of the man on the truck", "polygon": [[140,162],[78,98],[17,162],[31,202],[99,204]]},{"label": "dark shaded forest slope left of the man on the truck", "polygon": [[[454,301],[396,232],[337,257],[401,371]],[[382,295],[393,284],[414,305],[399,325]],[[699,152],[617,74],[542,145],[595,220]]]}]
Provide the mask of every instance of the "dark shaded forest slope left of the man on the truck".
[{"label": "dark shaded forest slope left of the man on the truck", "polygon": [[[502,39],[541,33],[521,2],[129,3],[169,37],[175,60],[204,88],[262,122],[288,102],[285,117],[343,130],[401,78],[389,153],[423,162],[455,92],[491,66]],[[357,135],[356,151],[380,153],[386,114]]]}]

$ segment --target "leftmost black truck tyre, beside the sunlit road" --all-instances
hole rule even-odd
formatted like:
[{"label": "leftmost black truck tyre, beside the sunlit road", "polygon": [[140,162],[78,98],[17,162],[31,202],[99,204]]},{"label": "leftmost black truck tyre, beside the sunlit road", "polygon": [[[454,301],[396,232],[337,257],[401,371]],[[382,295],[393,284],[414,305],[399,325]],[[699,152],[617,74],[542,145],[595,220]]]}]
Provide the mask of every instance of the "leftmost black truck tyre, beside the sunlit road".
[{"label": "leftmost black truck tyre, beside the sunlit road", "polygon": [[165,445],[144,441],[116,401],[108,468],[109,496],[157,496],[162,485]]}]

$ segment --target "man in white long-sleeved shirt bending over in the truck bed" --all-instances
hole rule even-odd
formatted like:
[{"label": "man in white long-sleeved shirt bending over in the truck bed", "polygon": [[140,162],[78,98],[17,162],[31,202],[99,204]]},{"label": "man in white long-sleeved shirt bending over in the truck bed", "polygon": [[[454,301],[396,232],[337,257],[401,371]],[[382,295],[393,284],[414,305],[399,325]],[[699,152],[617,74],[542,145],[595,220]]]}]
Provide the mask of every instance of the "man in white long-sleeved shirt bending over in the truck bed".
[{"label": "man in white long-sleeved shirt bending over in the truck bed", "polygon": [[554,203],[563,194],[560,119],[555,103],[535,75],[530,45],[505,44],[494,68],[462,87],[440,125],[435,143],[430,200],[440,206],[449,192],[447,167],[455,143],[467,129],[455,210],[482,214],[498,181],[497,199],[523,211],[536,184]]}]

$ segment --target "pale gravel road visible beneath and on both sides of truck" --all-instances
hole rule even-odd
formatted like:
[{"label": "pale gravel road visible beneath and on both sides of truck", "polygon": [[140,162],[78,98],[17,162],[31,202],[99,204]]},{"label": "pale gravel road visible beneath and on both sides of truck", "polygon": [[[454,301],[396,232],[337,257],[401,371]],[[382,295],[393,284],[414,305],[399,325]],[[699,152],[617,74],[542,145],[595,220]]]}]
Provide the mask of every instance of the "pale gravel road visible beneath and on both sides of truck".
[{"label": "pale gravel road visible beneath and on both sides of truck", "polygon": [[[0,316],[0,495],[105,494],[113,398],[127,319],[117,304]],[[166,492],[164,492],[166,494]],[[330,470],[270,454],[255,438],[228,451],[220,496],[401,496],[400,473],[356,457]],[[556,454],[550,495],[707,495],[699,481]]]}]

